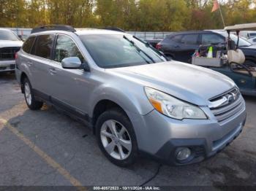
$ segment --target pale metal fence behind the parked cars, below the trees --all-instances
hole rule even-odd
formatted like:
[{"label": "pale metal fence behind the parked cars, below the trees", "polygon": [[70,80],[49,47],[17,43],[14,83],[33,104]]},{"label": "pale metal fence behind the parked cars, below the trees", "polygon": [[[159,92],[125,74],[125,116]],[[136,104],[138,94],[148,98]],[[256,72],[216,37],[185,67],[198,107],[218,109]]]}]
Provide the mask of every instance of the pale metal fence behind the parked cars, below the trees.
[{"label": "pale metal fence behind the parked cars, below the trees", "polygon": [[[31,28],[9,28],[18,35],[29,36]],[[79,29],[79,28],[78,28]],[[127,31],[128,34],[137,36],[140,39],[164,39],[167,34],[172,32],[140,32],[140,31]]]}]

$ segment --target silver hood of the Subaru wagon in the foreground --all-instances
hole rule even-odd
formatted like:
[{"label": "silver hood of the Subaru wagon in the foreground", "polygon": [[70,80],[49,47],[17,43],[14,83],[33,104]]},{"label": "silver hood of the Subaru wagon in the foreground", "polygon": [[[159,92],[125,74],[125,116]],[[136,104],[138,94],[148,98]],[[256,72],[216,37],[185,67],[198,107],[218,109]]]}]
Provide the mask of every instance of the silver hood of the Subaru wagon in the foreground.
[{"label": "silver hood of the Subaru wagon in the foreground", "polygon": [[108,70],[199,106],[208,105],[210,98],[235,86],[232,79],[217,71],[177,61]]}]

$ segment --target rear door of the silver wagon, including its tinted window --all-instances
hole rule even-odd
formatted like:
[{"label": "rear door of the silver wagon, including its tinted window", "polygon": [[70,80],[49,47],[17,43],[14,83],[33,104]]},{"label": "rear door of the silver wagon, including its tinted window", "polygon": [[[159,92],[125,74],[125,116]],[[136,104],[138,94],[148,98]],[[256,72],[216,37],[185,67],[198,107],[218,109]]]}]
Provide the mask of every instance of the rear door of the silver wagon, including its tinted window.
[{"label": "rear door of the silver wagon, including its tinted window", "polygon": [[55,34],[43,34],[37,36],[31,55],[30,67],[33,76],[32,86],[42,98],[48,99],[50,95],[50,60]]}]

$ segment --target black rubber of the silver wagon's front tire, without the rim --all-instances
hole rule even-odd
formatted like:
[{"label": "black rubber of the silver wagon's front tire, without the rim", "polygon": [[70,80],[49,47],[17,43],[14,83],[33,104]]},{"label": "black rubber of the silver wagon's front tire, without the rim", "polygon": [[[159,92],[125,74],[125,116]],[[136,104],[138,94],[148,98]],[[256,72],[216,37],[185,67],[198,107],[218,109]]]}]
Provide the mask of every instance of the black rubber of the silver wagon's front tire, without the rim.
[{"label": "black rubber of the silver wagon's front tire, without the rim", "polygon": [[[132,141],[132,151],[131,151],[129,157],[127,157],[124,160],[117,160],[117,159],[111,157],[108,154],[108,152],[105,150],[104,146],[102,145],[102,140],[100,137],[100,130],[101,130],[102,124],[107,120],[115,120],[117,122],[120,122],[122,125],[124,125],[124,127],[127,129],[128,133],[129,133],[130,139]],[[135,160],[138,157],[138,144],[137,144],[137,139],[135,136],[135,131],[133,130],[132,122],[130,122],[127,115],[124,114],[124,112],[121,111],[121,109],[111,109],[111,110],[108,110],[108,111],[102,113],[97,120],[95,128],[96,128],[96,136],[97,136],[99,148],[102,150],[105,157],[107,157],[108,160],[110,160],[110,162],[112,162],[118,166],[121,166],[121,167],[126,167],[128,165],[132,165],[133,163],[135,163]]]}]

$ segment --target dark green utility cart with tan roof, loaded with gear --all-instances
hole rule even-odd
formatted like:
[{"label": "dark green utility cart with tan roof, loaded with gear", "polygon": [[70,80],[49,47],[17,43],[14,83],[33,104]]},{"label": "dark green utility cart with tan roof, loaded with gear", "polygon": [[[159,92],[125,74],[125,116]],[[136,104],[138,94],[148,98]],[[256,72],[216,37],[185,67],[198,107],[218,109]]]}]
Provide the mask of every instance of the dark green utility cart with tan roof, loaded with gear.
[{"label": "dark green utility cart with tan roof, loaded with gear", "polygon": [[[207,51],[204,56],[201,52],[195,53],[192,57],[192,64],[204,66],[214,71],[219,71],[227,75],[236,82],[236,85],[244,95],[256,96],[256,67],[245,62],[244,53],[238,49],[239,32],[252,31],[256,29],[256,23],[240,24],[235,26],[227,26],[227,41],[222,44],[222,49],[215,51],[213,58],[207,57]],[[236,32],[238,36],[237,42],[230,39],[230,34]],[[219,46],[221,44],[210,44],[209,46]],[[220,46],[221,47],[221,46]]]}]

